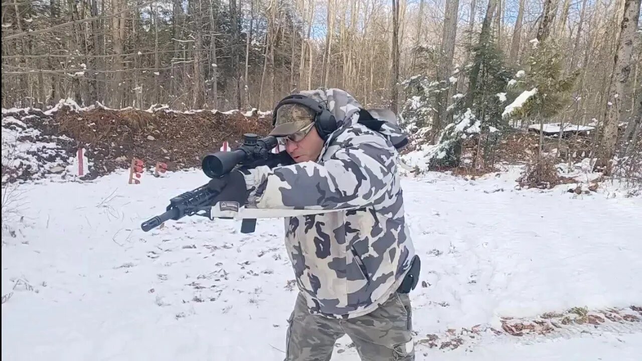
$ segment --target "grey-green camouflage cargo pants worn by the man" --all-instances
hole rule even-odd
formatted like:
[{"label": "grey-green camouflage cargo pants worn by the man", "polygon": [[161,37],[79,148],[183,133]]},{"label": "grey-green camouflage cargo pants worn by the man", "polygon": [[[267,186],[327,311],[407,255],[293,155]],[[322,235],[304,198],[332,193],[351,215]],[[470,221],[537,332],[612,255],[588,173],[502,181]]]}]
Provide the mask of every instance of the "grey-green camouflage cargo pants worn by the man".
[{"label": "grey-green camouflage cargo pants worn by the man", "polygon": [[345,334],[362,361],[415,360],[408,294],[392,294],[373,312],[347,320],[309,313],[299,294],[288,323],[285,361],[330,360],[334,342]]}]

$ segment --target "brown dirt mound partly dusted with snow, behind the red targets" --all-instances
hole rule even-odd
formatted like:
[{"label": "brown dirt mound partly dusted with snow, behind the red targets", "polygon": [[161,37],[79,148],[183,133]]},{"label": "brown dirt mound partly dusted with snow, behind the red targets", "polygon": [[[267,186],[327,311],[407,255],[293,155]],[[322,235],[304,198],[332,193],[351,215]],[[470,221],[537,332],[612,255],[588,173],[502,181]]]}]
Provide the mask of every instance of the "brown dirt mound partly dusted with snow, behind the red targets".
[{"label": "brown dirt mound partly dusted with snow, behind the red targets", "polygon": [[[115,110],[94,105],[80,108],[67,101],[44,112],[3,109],[2,126],[4,183],[52,173],[63,179],[73,177],[70,164],[76,164],[77,175],[79,147],[84,148],[89,165],[81,179],[128,168],[134,157],[143,159],[146,167],[157,162],[166,163],[168,170],[200,167],[202,157],[220,150],[223,141],[233,148],[245,133],[265,136],[271,118],[269,113],[256,110]],[[5,145],[12,148],[11,154],[4,152]],[[6,161],[10,156],[29,159]]]}]

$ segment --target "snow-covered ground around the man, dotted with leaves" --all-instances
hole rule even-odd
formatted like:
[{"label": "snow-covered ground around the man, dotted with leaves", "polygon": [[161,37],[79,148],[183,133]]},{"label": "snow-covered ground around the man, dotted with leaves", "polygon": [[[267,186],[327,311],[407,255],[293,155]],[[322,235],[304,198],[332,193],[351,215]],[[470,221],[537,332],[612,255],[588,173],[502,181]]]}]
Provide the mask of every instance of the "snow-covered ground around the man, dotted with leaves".
[{"label": "snow-covered ground around the man, dotted with leaves", "polygon": [[[502,330],[502,317],[642,306],[641,197],[517,191],[514,179],[404,178],[422,256],[417,360],[639,360],[642,322]],[[236,220],[186,217],[144,233],[169,198],[208,179],[127,180],[39,180],[16,191],[15,213],[3,209],[3,360],[282,360],[296,296],[282,220],[243,234]],[[333,360],[358,360],[350,343]]]}]

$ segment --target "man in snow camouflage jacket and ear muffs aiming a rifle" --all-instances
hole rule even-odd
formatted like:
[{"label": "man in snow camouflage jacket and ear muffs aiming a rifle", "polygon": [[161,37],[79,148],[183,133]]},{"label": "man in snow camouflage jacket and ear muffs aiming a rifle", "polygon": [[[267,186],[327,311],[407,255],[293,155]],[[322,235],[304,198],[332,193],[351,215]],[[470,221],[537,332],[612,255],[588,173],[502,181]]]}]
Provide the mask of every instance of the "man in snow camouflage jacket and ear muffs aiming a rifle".
[{"label": "man in snow camouflage jacket and ear muffs aiming a rifle", "polygon": [[414,360],[408,292],[419,258],[397,168],[408,140],[395,120],[373,113],[340,89],[288,96],[273,110],[270,135],[284,142],[293,164],[233,170],[209,182],[219,192],[213,206],[293,211],[285,245],[299,295],[286,361],[329,360],[345,334],[362,360]]}]

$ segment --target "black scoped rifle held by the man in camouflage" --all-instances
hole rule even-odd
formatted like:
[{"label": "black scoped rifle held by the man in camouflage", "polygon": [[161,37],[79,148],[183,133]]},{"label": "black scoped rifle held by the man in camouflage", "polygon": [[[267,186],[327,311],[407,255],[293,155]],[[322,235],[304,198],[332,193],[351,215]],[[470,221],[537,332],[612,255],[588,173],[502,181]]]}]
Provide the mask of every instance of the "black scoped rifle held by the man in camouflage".
[{"label": "black scoped rifle held by the man in camouflage", "polygon": [[[272,168],[279,164],[291,164],[292,159],[286,152],[279,154],[270,152],[276,145],[276,137],[259,138],[256,134],[246,133],[243,134],[243,145],[232,152],[207,154],[203,157],[201,166],[207,177],[215,178],[222,177],[241,167],[249,169],[266,165]],[[186,191],[171,198],[165,213],[146,220],[141,224],[141,229],[147,232],[167,220],[179,220],[184,216],[197,215],[211,218],[212,202],[217,195],[216,191],[207,188],[207,183],[191,191]],[[241,233],[252,233],[255,228],[256,219],[243,219]]]}]

